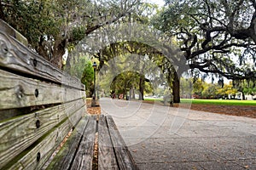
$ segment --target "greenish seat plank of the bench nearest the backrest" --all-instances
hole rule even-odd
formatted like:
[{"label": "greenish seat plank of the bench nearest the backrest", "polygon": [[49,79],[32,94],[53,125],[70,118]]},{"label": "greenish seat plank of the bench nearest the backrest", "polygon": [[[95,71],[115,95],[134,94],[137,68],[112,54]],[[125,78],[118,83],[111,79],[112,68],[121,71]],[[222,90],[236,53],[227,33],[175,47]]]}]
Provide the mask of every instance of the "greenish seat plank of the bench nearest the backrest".
[{"label": "greenish seat plank of the bench nearest the backrest", "polygon": [[84,133],[84,129],[90,120],[90,116],[85,116],[78,124],[78,126],[73,131],[72,135],[67,139],[66,144],[61,147],[59,153],[50,162],[47,169],[55,170],[67,170],[70,168],[73,158],[76,154],[76,150],[79,147],[79,142]]}]

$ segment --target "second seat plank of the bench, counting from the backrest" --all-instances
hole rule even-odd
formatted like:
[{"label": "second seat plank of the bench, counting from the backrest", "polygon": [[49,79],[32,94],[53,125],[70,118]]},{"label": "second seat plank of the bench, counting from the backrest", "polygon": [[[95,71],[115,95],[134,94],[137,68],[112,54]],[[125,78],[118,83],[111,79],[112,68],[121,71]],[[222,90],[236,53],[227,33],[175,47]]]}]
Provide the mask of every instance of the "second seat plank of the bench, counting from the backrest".
[{"label": "second seat plank of the bench, counting from the backrest", "polygon": [[94,142],[96,138],[96,116],[91,116],[88,122],[79,150],[74,158],[71,169],[92,169],[92,160],[94,155]]}]

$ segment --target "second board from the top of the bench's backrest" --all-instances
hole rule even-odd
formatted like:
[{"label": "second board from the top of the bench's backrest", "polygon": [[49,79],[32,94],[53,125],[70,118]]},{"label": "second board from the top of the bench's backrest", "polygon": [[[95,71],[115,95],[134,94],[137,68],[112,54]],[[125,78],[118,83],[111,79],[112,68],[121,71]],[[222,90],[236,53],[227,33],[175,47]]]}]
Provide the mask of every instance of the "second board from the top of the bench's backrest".
[{"label": "second board from the top of the bench's backrest", "polygon": [[0,110],[58,104],[85,97],[84,91],[79,89],[20,77],[2,70],[0,82]]}]

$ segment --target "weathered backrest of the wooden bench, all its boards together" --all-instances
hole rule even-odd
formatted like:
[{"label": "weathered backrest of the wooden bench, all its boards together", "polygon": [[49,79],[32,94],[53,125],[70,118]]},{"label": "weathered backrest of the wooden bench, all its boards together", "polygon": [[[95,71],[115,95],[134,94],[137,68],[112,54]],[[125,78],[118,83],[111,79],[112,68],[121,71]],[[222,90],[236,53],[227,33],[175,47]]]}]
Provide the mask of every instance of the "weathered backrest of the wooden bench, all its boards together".
[{"label": "weathered backrest of the wooden bench, all its boards together", "polygon": [[26,38],[3,20],[0,25],[0,169],[45,169],[76,127],[58,164],[70,168],[88,120],[81,119],[84,85],[20,43]]}]

